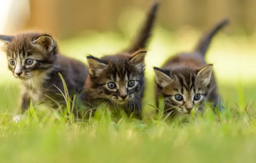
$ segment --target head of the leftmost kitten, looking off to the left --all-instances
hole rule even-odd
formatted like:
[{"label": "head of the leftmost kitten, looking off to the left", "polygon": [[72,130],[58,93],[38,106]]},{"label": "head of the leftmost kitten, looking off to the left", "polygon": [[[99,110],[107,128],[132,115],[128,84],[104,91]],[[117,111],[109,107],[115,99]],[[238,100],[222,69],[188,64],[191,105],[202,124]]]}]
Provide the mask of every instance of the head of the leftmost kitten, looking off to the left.
[{"label": "head of the leftmost kitten, looking off to the left", "polygon": [[47,34],[22,33],[17,36],[0,36],[0,39],[6,42],[4,49],[8,67],[15,78],[27,80],[43,74],[55,62],[56,44]]}]

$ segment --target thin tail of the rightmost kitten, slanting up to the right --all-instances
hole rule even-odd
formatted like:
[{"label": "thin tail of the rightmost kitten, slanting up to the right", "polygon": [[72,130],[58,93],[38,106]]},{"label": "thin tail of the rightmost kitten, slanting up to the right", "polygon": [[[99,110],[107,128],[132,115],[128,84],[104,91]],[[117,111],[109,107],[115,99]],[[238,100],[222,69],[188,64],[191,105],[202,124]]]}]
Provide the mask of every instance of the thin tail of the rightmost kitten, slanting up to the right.
[{"label": "thin tail of the rightmost kitten, slanting up to the right", "polygon": [[213,36],[215,36],[215,34],[227,24],[229,24],[229,19],[226,18],[216,24],[216,26],[214,26],[209,32],[205,33],[198,42],[198,45],[195,47],[195,51],[198,51],[205,56]]}]

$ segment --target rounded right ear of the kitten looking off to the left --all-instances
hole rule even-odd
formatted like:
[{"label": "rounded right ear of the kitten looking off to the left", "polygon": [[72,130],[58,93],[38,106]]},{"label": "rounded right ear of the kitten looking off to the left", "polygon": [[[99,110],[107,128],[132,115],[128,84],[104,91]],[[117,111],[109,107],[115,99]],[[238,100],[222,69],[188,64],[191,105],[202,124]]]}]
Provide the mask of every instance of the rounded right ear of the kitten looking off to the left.
[{"label": "rounded right ear of the kitten looking off to the left", "polygon": [[46,48],[48,52],[52,51],[54,48],[54,41],[51,36],[49,35],[42,35],[39,36],[36,40],[33,41],[34,44],[40,45],[43,48]]}]

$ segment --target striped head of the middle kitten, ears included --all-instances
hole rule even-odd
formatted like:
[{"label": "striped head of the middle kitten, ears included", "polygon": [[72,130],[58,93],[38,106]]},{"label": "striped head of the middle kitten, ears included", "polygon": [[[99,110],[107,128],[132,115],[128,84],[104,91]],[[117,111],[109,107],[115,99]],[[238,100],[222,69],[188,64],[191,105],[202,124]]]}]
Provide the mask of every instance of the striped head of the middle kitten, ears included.
[{"label": "striped head of the middle kitten, ears included", "polygon": [[91,88],[99,98],[118,104],[128,104],[138,96],[144,82],[146,51],[133,54],[87,57]]}]

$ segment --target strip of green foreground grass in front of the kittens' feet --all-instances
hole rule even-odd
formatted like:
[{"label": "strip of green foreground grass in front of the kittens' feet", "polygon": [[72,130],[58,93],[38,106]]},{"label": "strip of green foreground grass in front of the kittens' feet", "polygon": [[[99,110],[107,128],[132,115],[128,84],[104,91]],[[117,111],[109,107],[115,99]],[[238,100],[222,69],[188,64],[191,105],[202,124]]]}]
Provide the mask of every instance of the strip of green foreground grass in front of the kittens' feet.
[{"label": "strip of green foreground grass in front of the kittens' feet", "polygon": [[108,112],[100,112],[89,124],[56,123],[54,115],[44,123],[32,116],[16,124],[1,116],[0,161],[253,162],[256,121],[245,110],[236,111],[216,118],[207,110],[204,118],[188,124],[126,118],[114,122]]}]

